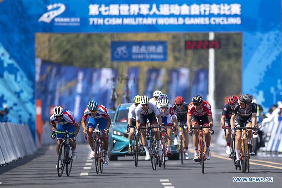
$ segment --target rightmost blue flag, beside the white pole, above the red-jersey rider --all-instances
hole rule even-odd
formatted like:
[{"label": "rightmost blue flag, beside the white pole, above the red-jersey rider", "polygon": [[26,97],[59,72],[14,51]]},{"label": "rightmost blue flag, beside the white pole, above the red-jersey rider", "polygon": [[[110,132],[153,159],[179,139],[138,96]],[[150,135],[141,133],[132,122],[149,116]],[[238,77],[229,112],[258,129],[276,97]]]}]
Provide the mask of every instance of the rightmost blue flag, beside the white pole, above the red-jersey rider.
[{"label": "rightmost blue flag, beside the white pole, above the red-jersey rider", "polygon": [[206,101],[207,95],[207,81],[208,81],[208,71],[206,69],[198,69],[193,73],[193,81],[191,87],[191,99],[195,95],[201,95]]}]

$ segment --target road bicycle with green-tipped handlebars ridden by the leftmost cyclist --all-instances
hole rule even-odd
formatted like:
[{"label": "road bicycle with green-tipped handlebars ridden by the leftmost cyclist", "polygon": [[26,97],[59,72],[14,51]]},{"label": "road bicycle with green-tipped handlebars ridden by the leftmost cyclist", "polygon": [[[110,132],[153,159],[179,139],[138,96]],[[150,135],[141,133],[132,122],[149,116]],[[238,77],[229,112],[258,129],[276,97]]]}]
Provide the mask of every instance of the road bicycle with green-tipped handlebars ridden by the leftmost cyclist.
[{"label": "road bicycle with green-tipped handlebars ridden by the leftmost cyclist", "polygon": [[[72,135],[72,139],[75,138],[74,133],[68,133],[68,131],[61,132],[61,131],[54,131],[52,132],[52,137],[55,136],[55,133],[61,133],[64,135],[64,138],[62,140],[62,143],[60,145],[59,149],[59,155],[57,159],[57,172],[58,176],[61,177],[63,175],[64,169],[66,167],[66,174],[67,176],[70,175],[71,167],[72,167],[72,147],[69,144],[69,134]],[[71,154],[70,154],[71,151]],[[61,167],[59,165],[59,162],[61,162]]]}]

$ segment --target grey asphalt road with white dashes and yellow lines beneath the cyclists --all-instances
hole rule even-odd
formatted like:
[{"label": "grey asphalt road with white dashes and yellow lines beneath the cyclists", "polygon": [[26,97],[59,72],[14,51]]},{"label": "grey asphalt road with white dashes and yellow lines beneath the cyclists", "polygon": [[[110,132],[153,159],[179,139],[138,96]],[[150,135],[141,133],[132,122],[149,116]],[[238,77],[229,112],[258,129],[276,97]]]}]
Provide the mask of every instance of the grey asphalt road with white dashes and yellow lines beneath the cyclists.
[{"label": "grey asphalt road with white dashes and yellow lines beneath the cyclists", "polygon": [[[282,187],[281,156],[258,153],[251,158],[250,172],[243,174],[235,170],[224,147],[211,144],[210,148],[212,159],[205,161],[205,174],[192,159],[185,160],[183,165],[180,160],[168,160],[166,169],[157,166],[153,171],[150,161],[145,161],[144,157],[138,167],[134,167],[132,157],[127,156],[110,161],[104,166],[103,174],[97,175],[93,159],[89,159],[88,144],[78,144],[78,157],[70,176],[64,172],[58,177],[55,145],[45,146],[32,156],[0,167],[0,187]],[[235,183],[232,177],[272,177],[273,182]]]}]

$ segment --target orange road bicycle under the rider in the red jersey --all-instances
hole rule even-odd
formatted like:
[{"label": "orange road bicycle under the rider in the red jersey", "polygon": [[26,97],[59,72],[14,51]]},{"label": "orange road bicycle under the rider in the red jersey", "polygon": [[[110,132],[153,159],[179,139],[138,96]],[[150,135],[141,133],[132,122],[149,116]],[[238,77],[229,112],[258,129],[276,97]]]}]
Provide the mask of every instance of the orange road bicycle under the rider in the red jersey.
[{"label": "orange road bicycle under the rider in the red jersey", "polygon": [[[205,149],[205,141],[203,138],[203,129],[204,128],[210,128],[210,132],[211,134],[214,133],[214,131],[212,130],[212,124],[210,124],[209,126],[203,126],[200,125],[199,127],[191,127],[190,132],[192,133],[192,129],[200,129],[200,140],[199,140],[199,147],[198,147],[198,160],[200,165],[202,166],[202,173],[205,173],[204,170],[204,161],[206,160],[206,149]],[[192,134],[190,134],[192,135]]]}]

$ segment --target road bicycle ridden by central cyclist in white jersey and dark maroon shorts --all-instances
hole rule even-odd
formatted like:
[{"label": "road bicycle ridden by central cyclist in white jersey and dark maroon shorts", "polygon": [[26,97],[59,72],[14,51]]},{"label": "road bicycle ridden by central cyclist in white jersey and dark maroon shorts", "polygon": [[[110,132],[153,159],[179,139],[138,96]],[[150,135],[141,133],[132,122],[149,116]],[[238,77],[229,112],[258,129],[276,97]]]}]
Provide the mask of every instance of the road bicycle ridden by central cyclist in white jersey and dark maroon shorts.
[{"label": "road bicycle ridden by central cyclist in white jersey and dark maroon shorts", "polygon": [[156,158],[158,157],[157,153],[157,146],[155,144],[155,139],[152,136],[152,129],[153,128],[160,128],[159,125],[153,126],[153,127],[138,127],[138,132],[140,132],[140,129],[148,129],[149,130],[149,152],[150,152],[150,159],[153,170],[156,170]]}]

